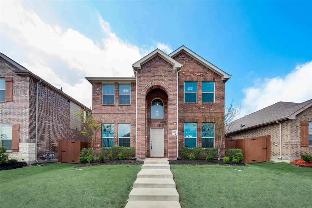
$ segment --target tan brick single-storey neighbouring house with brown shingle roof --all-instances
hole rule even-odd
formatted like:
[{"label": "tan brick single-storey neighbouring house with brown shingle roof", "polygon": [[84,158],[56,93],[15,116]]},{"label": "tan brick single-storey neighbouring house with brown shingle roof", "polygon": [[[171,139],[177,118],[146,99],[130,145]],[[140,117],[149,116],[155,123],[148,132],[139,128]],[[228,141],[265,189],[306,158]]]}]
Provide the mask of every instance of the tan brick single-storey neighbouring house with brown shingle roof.
[{"label": "tan brick single-storey neighbouring house with brown shingle roof", "polygon": [[312,155],[312,99],[277,102],[237,119],[228,134],[236,140],[266,135],[271,136],[271,159],[295,160],[302,154]]}]

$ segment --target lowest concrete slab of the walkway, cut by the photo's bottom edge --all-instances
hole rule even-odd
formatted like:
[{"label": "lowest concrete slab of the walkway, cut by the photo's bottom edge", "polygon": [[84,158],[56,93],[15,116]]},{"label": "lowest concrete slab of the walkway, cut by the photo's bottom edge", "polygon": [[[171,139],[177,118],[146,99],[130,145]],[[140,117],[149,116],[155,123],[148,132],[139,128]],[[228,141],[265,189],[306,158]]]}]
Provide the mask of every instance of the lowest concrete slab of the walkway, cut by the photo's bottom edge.
[{"label": "lowest concrete slab of the walkway, cut by the photo's bottom edge", "polygon": [[125,208],[181,208],[178,201],[128,201]]}]

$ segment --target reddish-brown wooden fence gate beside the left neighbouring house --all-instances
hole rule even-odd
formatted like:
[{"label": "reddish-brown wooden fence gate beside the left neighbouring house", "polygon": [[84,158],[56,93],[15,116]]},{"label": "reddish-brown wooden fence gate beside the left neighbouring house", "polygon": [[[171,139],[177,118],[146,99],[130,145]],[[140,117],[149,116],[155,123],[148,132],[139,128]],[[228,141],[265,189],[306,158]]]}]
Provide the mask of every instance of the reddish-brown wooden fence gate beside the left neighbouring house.
[{"label": "reddish-brown wooden fence gate beside the left neighbouring house", "polygon": [[67,163],[79,163],[80,150],[88,146],[87,142],[61,139],[58,145],[58,161]]}]

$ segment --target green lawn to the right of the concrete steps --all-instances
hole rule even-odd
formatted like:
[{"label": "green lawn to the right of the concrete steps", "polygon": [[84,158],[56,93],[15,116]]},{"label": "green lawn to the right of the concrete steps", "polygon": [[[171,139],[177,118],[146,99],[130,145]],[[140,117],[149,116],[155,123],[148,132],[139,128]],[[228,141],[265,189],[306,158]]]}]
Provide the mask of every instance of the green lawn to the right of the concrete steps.
[{"label": "green lawn to the right of the concrete steps", "polygon": [[170,166],[183,208],[311,208],[312,168],[271,162],[244,167]]}]

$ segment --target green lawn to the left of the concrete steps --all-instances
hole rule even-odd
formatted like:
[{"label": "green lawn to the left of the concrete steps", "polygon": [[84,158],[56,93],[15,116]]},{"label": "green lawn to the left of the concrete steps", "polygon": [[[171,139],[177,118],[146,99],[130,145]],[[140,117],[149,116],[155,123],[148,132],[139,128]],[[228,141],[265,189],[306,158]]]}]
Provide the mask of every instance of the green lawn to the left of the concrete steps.
[{"label": "green lawn to the left of the concrete steps", "polygon": [[30,166],[0,172],[1,207],[124,207],[141,165]]}]

